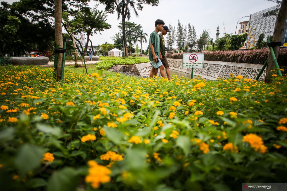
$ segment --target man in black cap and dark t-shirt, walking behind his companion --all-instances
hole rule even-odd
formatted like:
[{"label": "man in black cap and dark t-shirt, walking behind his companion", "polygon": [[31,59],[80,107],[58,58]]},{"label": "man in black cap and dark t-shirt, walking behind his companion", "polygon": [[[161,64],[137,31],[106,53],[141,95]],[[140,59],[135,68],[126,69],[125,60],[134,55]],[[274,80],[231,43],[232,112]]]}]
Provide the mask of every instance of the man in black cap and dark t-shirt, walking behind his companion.
[{"label": "man in black cap and dark t-shirt, walking behind his companion", "polygon": [[[160,36],[160,60],[162,61],[162,64],[165,68],[167,78],[170,80],[171,78],[170,78],[169,64],[165,56],[165,43],[164,43],[164,38],[163,38],[163,36],[166,35],[167,32],[170,32],[170,30],[168,30],[168,26],[164,25],[161,33],[159,34]],[[154,74],[156,75],[157,73],[158,73],[158,69],[156,69]]]}]

